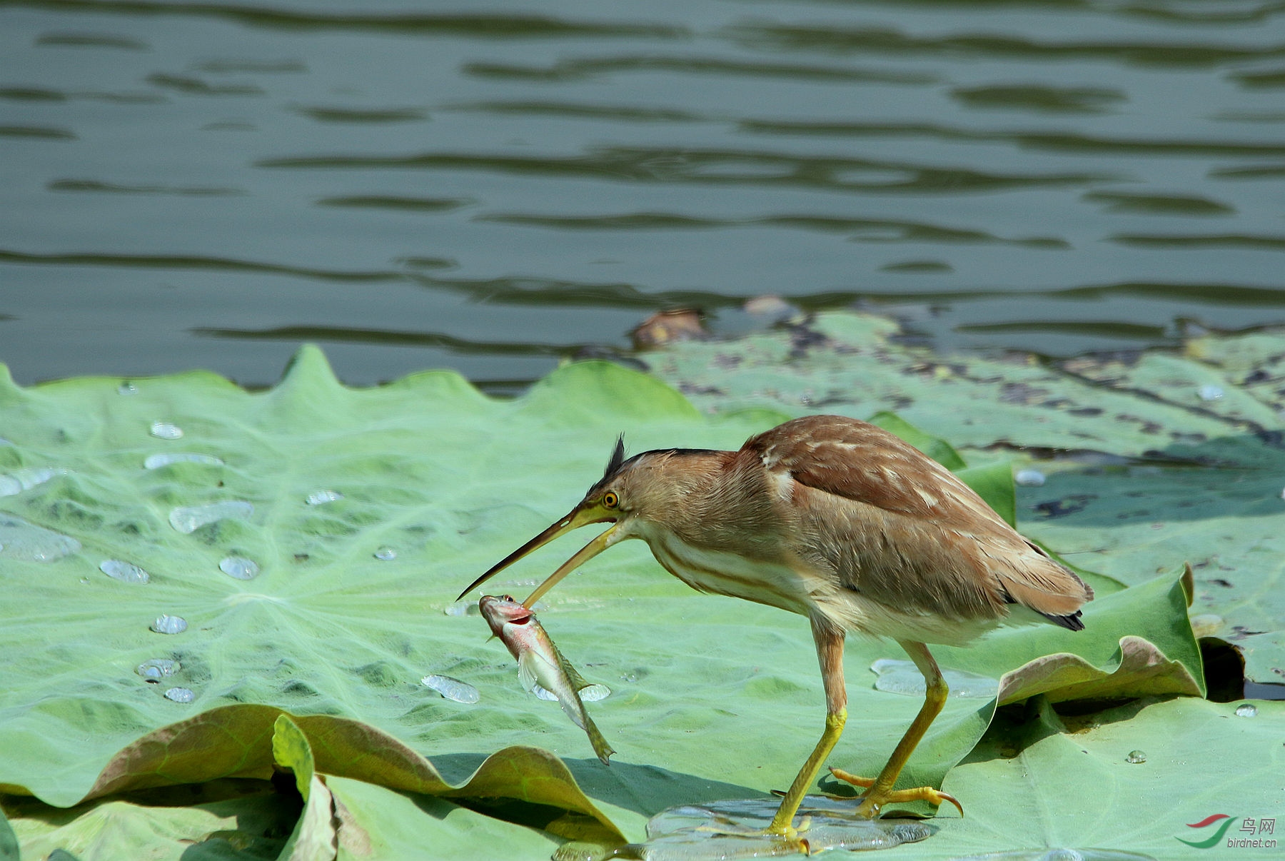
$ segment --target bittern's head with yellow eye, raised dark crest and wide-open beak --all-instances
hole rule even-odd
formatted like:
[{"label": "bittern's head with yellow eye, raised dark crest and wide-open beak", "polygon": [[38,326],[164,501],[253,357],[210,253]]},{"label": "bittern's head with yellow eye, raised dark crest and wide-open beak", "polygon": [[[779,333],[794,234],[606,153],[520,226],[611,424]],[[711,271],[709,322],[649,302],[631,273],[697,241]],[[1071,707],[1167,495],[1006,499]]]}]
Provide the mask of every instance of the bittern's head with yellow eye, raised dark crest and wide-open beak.
[{"label": "bittern's head with yellow eye, raised dark crest and wide-open beak", "polygon": [[565,517],[474,580],[468,589],[460,592],[460,598],[464,598],[499,572],[527,554],[545,546],[554,538],[591,523],[613,524],[581,547],[576,555],[559,565],[558,571],[550,574],[545,582],[540,583],[536,591],[523,601],[523,605],[529,608],[545,592],[553,589],[558,581],[603,550],[625,538],[641,537],[641,529],[646,523],[666,522],[682,506],[686,497],[686,484],[691,478],[690,470],[682,469],[680,464],[675,463],[675,456],[680,454],[689,452],[676,450],[646,451],[626,459],[625,437],[619,437],[616,441],[612,457],[607,463],[603,478],[589,488],[585,499]]}]

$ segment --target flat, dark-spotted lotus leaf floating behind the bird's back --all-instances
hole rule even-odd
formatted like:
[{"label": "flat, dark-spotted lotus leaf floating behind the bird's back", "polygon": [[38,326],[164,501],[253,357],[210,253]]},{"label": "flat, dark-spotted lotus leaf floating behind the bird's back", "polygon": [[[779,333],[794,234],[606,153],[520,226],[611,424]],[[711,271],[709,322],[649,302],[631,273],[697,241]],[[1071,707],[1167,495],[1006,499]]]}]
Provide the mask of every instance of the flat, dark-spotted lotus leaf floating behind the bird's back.
[{"label": "flat, dark-spotted lotus leaf floating behind the bird's back", "polygon": [[941,356],[898,334],[887,319],[831,312],[644,360],[707,413],[894,409],[971,460],[1045,456],[1046,483],[1016,491],[1024,535],[1130,586],[1190,562],[1201,630],[1241,650],[1248,679],[1285,684],[1285,334],[1060,362]]}]

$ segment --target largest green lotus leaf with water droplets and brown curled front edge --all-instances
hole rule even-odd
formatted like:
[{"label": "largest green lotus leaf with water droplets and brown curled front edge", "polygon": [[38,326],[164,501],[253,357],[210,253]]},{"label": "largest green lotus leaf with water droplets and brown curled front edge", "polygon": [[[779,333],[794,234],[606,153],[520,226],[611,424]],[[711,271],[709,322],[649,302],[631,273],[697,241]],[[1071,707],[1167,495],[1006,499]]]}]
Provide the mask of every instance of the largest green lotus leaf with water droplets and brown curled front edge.
[{"label": "largest green lotus leaf with water droplets and brown curled front edge", "polygon": [[[203,373],[134,380],[125,393],[120,383],[0,384],[12,443],[0,463],[15,477],[5,487],[18,488],[0,496],[18,538],[0,550],[0,646],[12,655],[0,666],[0,792],[40,799],[23,802],[32,807],[21,817],[6,807],[24,843],[48,819],[40,803],[81,803],[68,813],[89,816],[116,803],[94,801],[105,793],[267,777],[283,712],[281,758],[306,761],[302,736],[315,762],[316,810],[292,822],[288,847],[305,856],[329,846],[326,804],[342,822],[342,803],[371,846],[397,847],[384,813],[411,816],[405,799],[454,817],[448,842],[510,835],[499,855],[544,852],[550,834],[640,839],[645,820],[675,803],[783,788],[820,735],[806,621],[695,594],[640,542],[591,560],[540,610],[585,677],[612,688],[589,704],[619,750],[610,767],[555,704],[520,689],[502,644],[469,613],[472,598],[455,601],[580,500],[617,433],[635,451],[727,448],[779,413],[708,416],[603,362],[565,366],[513,401],[445,373],[355,391],[311,348],[267,392]],[[164,438],[175,428],[182,437]],[[969,474],[997,505],[1011,493],[1006,475]],[[529,590],[585,537],[487,589]],[[1151,693],[1155,677],[1199,690],[1181,587],[1135,582],[1103,590],[1083,632],[1004,628],[934,653],[993,679],[996,693],[1011,671],[1022,680],[1011,690],[1050,699],[1076,685],[1094,697]],[[1050,654],[1074,655],[1061,658],[1074,671],[1025,668]],[[1140,655],[1160,670],[1146,676]],[[917,712],[921,698],[880,690],[864,670],[902,657],[892,644],[849,643],[852,718],[835,765],[878,770]],[[420,684],[428,675],[474,686],[478,700],[445,699]],[[952,698],[905,781],[939,784],[995,713],[995,693]],[[328,784],[330,801],[317,790]],[[371,810],[379,799],[387,807]],[[986,790],[961,799],[970,811],[989,803]],[[497,819],[519,825],[487,822]],[[355,852],[343,830],[335,851]]]}]

